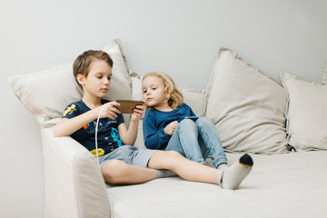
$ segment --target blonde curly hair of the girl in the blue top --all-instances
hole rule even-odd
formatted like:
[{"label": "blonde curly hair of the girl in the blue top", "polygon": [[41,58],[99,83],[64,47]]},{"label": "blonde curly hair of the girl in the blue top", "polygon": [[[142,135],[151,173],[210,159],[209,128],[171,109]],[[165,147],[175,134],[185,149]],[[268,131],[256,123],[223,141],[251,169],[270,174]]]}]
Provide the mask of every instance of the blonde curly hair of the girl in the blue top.
[{"label": "blonde curly hair of the girl in the blue top", "polygon": [[[155,76],[163,81],[164,94],[168,99],[168,105],[175,109],[183,104],[183,94],[178,90],[173,79],[168,74],[163,74],[159,72],[153,72],[145,74],[142,82],[148,76]],[[146,106],[146,109],[154,110],[153,107]]]}]

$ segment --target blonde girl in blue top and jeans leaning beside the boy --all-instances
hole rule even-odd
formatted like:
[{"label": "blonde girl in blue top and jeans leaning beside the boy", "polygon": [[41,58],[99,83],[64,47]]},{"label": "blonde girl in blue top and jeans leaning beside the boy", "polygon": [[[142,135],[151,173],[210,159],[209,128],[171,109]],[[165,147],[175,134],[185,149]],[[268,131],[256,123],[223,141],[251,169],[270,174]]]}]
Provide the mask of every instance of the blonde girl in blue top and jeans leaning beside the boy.
[{"label": "blonde girl in blue top and jeans leaning beside the boy", "polygon": [[213,123],[205,117],[196,117],[191,107],[183,103],[183,94],[169,75],[146,74],[142,86],[148,109],[144,114],[147,148],[174,150],[203,164],[210,154],[214,167],[227,167],[226,155]]}]

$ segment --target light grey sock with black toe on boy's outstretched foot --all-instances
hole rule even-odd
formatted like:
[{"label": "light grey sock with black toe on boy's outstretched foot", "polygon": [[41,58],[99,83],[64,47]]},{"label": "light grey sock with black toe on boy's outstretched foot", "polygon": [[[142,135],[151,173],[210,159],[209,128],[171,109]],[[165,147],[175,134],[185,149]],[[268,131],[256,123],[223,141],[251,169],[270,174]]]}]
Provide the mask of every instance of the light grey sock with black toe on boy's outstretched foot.
[{"label": "light grey sock with black toe on boy's outstretched foot", "polygon": [[251,172],[252,166],[252,157],[249,154],[244,154],[237,163],[233,163],[226,169],[219,170],[218,184],[223,189],[237,189],[243,179]]}]

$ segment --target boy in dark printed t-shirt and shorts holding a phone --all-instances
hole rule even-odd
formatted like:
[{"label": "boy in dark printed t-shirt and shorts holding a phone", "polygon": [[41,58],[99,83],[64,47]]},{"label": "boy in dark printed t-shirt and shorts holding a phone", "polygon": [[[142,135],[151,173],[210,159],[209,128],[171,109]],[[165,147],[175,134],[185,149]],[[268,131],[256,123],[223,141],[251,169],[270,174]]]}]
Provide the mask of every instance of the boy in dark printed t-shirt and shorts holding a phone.
[{"label": "boy in dark printed t-shirt and shorts holding a phone", "polygon": [[84,95],[79,102],[67,106],[63,119],[54,127],[55,137],[70,135],[96,154],[94,127],[101,112],[97,153],[106,183],[144,183],[177,173],[189,181],[216,183],[226,189],[238,188],[252,169],[253,160],[247,154],[228,170],[217,170],[190,161],[174,151],[138,149],[124,145],[134,144],[139,120],[144,114],[144,105],[134,109],[127,129],[123,115],[116,108],[119,104],[103,99],[109,91],[112,67],[111,57],[102,51],[89,50],[77,57],[73,65],[74,77],[82,86]]}]

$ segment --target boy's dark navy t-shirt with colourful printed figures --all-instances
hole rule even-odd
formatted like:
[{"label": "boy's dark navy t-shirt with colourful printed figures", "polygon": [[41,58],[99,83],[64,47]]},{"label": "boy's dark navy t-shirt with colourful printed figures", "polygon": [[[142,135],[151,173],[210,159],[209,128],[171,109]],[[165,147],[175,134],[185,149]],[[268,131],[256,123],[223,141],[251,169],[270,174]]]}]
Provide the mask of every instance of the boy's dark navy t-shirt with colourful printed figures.
[{"label": "boy's dark navy t-shirt with colourful printed figures", "polygon": [[[102,99],[101,103],[105,104],[109,101]],[[84,104],[82,100],[69,104],[64,110],[63,118],[73,118],[80,114],[90,111],[91,109]],[[99,120],[99,128],[97,132],[97,146],[98,155],[102,156],[114,151],[114,149],[123,145],[122,139],[118,134],[118,125],[124,123],[124,117],[122,114],[117,114],[117,118],[101,118]],[[92,154],[96,155],[95,151],[95,126],[96,119],[89,124],[85,124],[84,127],[71,134],[80,144],[89,150]]]}]

